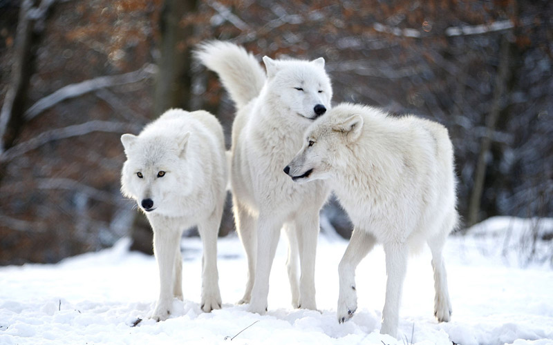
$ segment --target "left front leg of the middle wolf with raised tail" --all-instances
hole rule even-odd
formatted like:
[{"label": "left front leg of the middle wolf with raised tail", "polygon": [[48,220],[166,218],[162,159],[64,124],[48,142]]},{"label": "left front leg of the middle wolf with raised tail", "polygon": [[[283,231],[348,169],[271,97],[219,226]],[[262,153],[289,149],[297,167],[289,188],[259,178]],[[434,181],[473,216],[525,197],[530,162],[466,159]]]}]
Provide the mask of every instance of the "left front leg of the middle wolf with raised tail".
[{"label": "left front leg of the middle wolf with raised tail", "polygon": [[257,221],[257,258],[255,267],[255,282],[252,289],[252,300],[247,311],[265,314],[267,312],[267,297],[269,295],[269,276],[274,259],[274,253],[279,244],[279,235],[283,220],[270,212],[261,212]]}]

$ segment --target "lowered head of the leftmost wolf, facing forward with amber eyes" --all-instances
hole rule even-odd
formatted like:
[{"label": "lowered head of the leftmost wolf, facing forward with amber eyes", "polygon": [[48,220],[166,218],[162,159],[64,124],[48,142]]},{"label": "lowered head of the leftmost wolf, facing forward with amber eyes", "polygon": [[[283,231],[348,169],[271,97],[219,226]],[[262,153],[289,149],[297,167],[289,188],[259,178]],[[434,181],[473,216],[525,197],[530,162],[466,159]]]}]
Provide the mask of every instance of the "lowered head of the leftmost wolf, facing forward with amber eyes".
[{"label": "lowered head of the leftmost wolf, facing forward with amber eyes", "polygon": [[121,172],[121,192],[135,199],[144,213],[178,215],[179,196],[192,188],[187,165],[190,133],[173,137],[121,136],[126,161]]}]

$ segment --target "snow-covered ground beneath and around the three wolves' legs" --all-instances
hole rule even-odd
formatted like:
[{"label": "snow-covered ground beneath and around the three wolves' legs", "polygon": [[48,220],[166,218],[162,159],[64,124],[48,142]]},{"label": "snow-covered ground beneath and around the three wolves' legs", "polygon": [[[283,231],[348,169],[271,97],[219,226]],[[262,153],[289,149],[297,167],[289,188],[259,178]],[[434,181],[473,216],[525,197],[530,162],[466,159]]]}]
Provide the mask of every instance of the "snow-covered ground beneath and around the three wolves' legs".
[{"label": "snow-covered ground beneath and around the three wolves' legs", "polygon": [[[291,308],[282,241],[272,268],[268,315],[235,306],[243,294],[246,262],[238,238],[229,237],[218,242],[223,309],[201,313],[201,244],[183,239],[185,302],[174,302],[178,313],[171,319],[153,322],[147,317],[158,295],[156,262],[129,253],[123,239],[111,249],[55,265],[0,268],[0,344],[553,344],[553,270],[546,261],[553,242],[528,244],[524,239],[534,226],[536,221],[496,217],[466,237],[450,237],[444,256],[453,315],[447,324],[433,318],[429,251],[412,257],[399,340],[379,334],[386,282],[382,247],[357,268],[359,308],[349,322],[338,324],[337,266],[347,242],[321,235],[320,312]],[[553,219],[538,226],[538,234],[553,233]],[[537,253],[534,259],[528,259],[528,250]],[[132,327],[139,317],[144,320]]]}]

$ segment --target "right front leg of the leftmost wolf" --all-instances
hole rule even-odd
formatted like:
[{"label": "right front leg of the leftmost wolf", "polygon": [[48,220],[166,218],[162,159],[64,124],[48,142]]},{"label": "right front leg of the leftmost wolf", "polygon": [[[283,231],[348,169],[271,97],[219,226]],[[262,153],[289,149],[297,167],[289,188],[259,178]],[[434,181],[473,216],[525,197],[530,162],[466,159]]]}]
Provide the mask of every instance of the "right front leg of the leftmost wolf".
[{"label": "right front leg of the leftmost wolf", "polygon": [[198,224],[198,233],[202,238],[202,300],[200,307],[205,313],[221,309],[221,292],[219,291],[219,273],[217,270],[217,235],[221,225],[221,212],[214,212],[211,217]]}]

